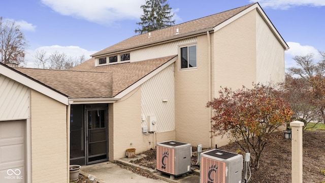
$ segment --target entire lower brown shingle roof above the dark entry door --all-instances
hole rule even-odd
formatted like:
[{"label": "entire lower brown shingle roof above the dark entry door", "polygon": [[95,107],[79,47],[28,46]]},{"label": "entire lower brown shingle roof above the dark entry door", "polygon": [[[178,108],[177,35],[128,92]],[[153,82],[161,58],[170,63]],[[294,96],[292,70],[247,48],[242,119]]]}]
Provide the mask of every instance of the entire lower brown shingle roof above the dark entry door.
[{"label": "entire lower brown shingle roof above the dark entry door", "polygon": [[94,67],[94,59],[91,58],[70,71],[14,69],[69,98],[112,98],[175,56],[101,67]]}]

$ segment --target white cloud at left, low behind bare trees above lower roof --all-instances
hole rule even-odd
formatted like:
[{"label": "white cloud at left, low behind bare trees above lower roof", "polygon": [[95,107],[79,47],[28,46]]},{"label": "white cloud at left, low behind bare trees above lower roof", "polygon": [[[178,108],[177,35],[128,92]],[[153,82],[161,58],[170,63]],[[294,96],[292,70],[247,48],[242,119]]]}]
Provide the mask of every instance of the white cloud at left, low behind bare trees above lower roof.
[{"label": "white cloud at left, low behind bare trees above lower roof", "polygon": [[35,58],[33,57],[36,53],[36,50],[44,50],[46,51],[46,57],[49,57],[51,53],[57,51],[59,53],[66,53],[68,57],[78,57],[81,55],[85,55],[86,59],[90,58],[90,55],[97,52],[97,51],[88,51],[86,49],[80,48],[79,46],[41,46],[35,50],[26,50],[25,55],[25,67],[27,68],[35,68],[34,65]]}]

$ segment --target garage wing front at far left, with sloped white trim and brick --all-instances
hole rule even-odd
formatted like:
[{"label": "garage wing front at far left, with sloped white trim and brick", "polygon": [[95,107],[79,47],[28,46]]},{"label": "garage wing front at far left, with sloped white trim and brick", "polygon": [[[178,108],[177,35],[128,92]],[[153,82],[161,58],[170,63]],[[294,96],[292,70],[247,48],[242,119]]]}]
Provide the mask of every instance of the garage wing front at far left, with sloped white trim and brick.
[{"label": "garage wing front at far left, with sloped white trim and brick", "polygon": [[0,182],[69,181],[68,97],[0,63]]}]

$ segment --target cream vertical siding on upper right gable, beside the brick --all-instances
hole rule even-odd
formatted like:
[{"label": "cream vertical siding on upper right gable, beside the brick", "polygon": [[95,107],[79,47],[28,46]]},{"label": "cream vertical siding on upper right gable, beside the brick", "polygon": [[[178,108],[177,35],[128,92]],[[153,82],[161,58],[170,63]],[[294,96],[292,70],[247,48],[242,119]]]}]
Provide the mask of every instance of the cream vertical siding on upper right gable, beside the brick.
[{"label": "cream vertical siding on upper right gable, beside the brick", "polygon": [[256,82],[283,82],[284,49],[257,12],[256,17]]}]

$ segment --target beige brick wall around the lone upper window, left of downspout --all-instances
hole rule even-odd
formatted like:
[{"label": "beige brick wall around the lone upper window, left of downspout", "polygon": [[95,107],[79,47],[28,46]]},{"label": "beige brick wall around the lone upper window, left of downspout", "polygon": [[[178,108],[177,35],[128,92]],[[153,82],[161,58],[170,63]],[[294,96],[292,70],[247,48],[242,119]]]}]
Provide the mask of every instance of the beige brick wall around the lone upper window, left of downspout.
[{"label": "beige brick wall around the lone upper window, left of downspout", "polygon": [[175,63],[175,129],[176,140],[210,147],[208,96],[208,40],[197,38],[197,68],[180,70]]}]

